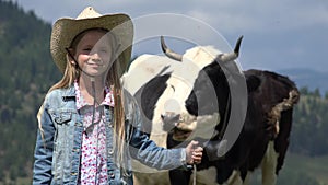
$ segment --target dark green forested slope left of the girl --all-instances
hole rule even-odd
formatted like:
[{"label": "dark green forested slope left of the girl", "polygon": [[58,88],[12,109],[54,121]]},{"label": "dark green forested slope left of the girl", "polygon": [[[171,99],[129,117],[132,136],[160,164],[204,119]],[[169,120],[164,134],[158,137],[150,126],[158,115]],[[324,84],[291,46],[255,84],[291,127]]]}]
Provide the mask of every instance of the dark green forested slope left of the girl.
[{"label": "dark green forested slope left of the girl", "polygon": [[51,25],[0,1],[0,182],[31,176],[36,112],[60,77],[51,62]]}]

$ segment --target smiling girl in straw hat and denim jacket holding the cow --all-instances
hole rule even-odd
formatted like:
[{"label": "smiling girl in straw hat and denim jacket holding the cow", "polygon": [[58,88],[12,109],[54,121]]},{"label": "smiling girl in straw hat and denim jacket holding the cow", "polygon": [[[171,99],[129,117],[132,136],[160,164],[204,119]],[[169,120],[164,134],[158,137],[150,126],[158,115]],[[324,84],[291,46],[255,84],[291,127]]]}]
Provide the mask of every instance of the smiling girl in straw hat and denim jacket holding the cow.
[{"label": "smiling girl in straw hat and denim jacket holding the cow", "polygon": [[38,114],[33,184],[132,184],[130,158],[155,169],[199,163],[202,148],[157,147],[121,88],[133,28],[126,14],[84,9],[52,27],[50,51],[63,72]]}]

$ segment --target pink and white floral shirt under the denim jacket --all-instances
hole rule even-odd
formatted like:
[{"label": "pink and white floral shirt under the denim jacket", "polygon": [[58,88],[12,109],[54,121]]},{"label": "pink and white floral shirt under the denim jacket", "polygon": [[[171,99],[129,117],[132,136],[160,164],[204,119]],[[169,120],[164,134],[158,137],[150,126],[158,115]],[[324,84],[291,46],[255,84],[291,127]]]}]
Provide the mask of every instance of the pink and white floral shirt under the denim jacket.
[{"label": "pink and white floral shirt under the denim jacket", "polygon": [[[81,95],[75,81],[77,108],[83,115],[82,149],[79,184],[103,185],[107,184],[107,157],[104,105],[114,107],[114,97],[109,88],[105,88],[105,100],[96,104],[94,124],[92,125],[93,105],[87,104]],[[90,128],[89,128],[90,127]]]}]

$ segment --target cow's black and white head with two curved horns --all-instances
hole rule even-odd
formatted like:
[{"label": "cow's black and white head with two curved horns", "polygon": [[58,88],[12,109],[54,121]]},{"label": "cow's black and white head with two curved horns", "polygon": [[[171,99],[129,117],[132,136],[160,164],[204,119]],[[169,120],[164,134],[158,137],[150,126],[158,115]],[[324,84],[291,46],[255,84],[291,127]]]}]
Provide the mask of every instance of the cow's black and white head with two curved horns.
[{"label": "cow's black and white head with two curved horns", "polygon": [[[236,78],[243,78],[234,62],[241,42],[242,37],[231,54],[212,47],[195,47],[179,55],[161,38],[165,55],[184,67],[172,72],[176,81],[169,84],[171,99],[163,99],[167,107],[160,113],[164,130],[169,131],[174,140],[184,141],[191,134],[190,138],[210,139],[224,131],[232,104],[231,85],[238,81]],[[188,84],[181,84],[184,81]]]}]

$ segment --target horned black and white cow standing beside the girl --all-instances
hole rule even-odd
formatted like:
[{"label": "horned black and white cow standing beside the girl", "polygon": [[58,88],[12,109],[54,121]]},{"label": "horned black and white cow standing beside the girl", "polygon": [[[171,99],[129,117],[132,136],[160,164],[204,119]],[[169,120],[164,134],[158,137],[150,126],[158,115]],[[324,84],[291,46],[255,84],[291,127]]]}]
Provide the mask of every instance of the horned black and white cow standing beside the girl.
[{"label": "horned black and white cow standing beside the girl", "polygon": [[[140,104],[144,131],[159,146],[183,147],[190,139],[200,140],[204,146],[203,160],[196,166],[197,184],[247,184],[248,172],[261,162],[263,184],[274,184],[283,162],[286,147],[280,144],[289,137],[297,91],[285,79],[286,89],[271,100],[270,94],[279,90],[274,88],[285,88],[280,85],[281,76],[253,70],[246,72],[245,79],[233,61],[238,55],[239,42],[233,54],[222,54],[210,46],[195,47],[184,56],[167,53],[169,58],[180,62],[164,56],[143,55],[122,78],[129,82],[125,88]],[[273,77],[278,80],[271,83]],[[290,97],[293,90],[296,95]],[[284,117],[288,118],[284,120]],[[286,129],[282,129],[284,127]],[[236,136],[225,137],[229,131]],[[139,171],[134,172],[136,184],[190,182],[191,171],[154,173],[138,162],[134,166]]]}]

